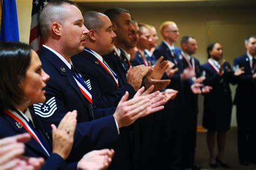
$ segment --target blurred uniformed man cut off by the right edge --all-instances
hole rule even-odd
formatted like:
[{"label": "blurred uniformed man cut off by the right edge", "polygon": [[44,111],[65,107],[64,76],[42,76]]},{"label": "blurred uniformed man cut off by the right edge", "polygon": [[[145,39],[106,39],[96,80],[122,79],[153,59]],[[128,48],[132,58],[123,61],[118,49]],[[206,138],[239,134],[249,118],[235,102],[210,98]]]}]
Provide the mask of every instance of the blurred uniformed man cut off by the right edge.
[{"label": "blurred uniformed man cut off by the right edge", "polygon": [[237,90],[234,104],[237,106],[238,157],[240,164],[256,164],[256,36],[245,39],[246,53],[234,59],[234,70],[244,69],[237,77]]}]

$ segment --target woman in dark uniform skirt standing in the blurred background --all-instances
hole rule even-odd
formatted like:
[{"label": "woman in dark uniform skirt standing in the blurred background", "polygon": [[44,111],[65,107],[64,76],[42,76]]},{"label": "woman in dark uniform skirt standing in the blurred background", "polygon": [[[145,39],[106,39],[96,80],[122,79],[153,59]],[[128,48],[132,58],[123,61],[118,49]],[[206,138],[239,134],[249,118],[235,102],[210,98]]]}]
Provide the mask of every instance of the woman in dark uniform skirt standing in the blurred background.
[{"label": "woman in dark uniform skirt standing in the blurred background", "polygon": [[[228,62],[223,59],[223,47],[219,43],[211,43],[207,47],[208,61],[201,65],[206,77],[204,84],[212,86],[210,93],[204,95],[203,126],[207,129],[207,146],[210,152],[210,166],[218,165],[230,168],[223,162],[226,144],[226,132],[230,130],[232,98],[230,83],[235,83],[234,72]],[[214,147],[217,134],[218,154]]]}]

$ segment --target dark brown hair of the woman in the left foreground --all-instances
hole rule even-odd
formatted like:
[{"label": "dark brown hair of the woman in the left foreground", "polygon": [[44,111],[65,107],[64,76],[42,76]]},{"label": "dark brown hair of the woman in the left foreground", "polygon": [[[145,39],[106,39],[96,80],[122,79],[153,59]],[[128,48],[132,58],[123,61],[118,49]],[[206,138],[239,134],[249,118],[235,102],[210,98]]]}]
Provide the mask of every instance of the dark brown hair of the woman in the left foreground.
[{"label": "dark brown hair of the woman in the left foreground", "polygon": [[0,111],[23,103],[20,84],[31,61],[31,46],[18,42],[0,42]]}]

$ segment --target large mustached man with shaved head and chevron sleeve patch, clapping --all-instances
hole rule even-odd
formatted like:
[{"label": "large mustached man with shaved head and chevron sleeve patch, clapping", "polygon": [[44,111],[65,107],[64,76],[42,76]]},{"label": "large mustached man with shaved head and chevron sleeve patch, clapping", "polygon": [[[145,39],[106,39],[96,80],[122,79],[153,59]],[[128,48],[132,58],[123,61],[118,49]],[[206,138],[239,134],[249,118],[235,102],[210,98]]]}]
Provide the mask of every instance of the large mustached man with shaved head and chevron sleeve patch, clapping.
[{"label": "large mustached man with shaved head and chevron sleeve patch, clapping", "polygon": [[70,161],[80,159],[92,149],[113,147],[118,141],[120,127],[151,112],[146,108],[148,99],[125,101],[128,93],[117,109],[99,109],[93,105],[90,89],[70,59],[84,50],[88,30],[83,21],[82,13],[71,2],[50,2],[39,18],[44,38],[39,57],[51,79],[45,87],[46,102],[33,105],[33,111],[41,118],[46,132],[51,133],[51,124],[58,125],[66,112],[77,110],[75,147]]}]

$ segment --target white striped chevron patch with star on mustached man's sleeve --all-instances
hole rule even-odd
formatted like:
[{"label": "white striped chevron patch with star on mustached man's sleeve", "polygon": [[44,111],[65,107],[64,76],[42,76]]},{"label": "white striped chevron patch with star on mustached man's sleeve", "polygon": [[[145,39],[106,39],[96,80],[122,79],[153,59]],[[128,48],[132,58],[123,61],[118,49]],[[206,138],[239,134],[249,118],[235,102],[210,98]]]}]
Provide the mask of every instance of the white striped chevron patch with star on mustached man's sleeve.
[{"label": "white striped chevron patch with star on mustached man's sleeve", "polygon": [[45,104],[33,104],[34,111],[42,118],[49,118],[57,110],[55,97],[50,98]]}]

